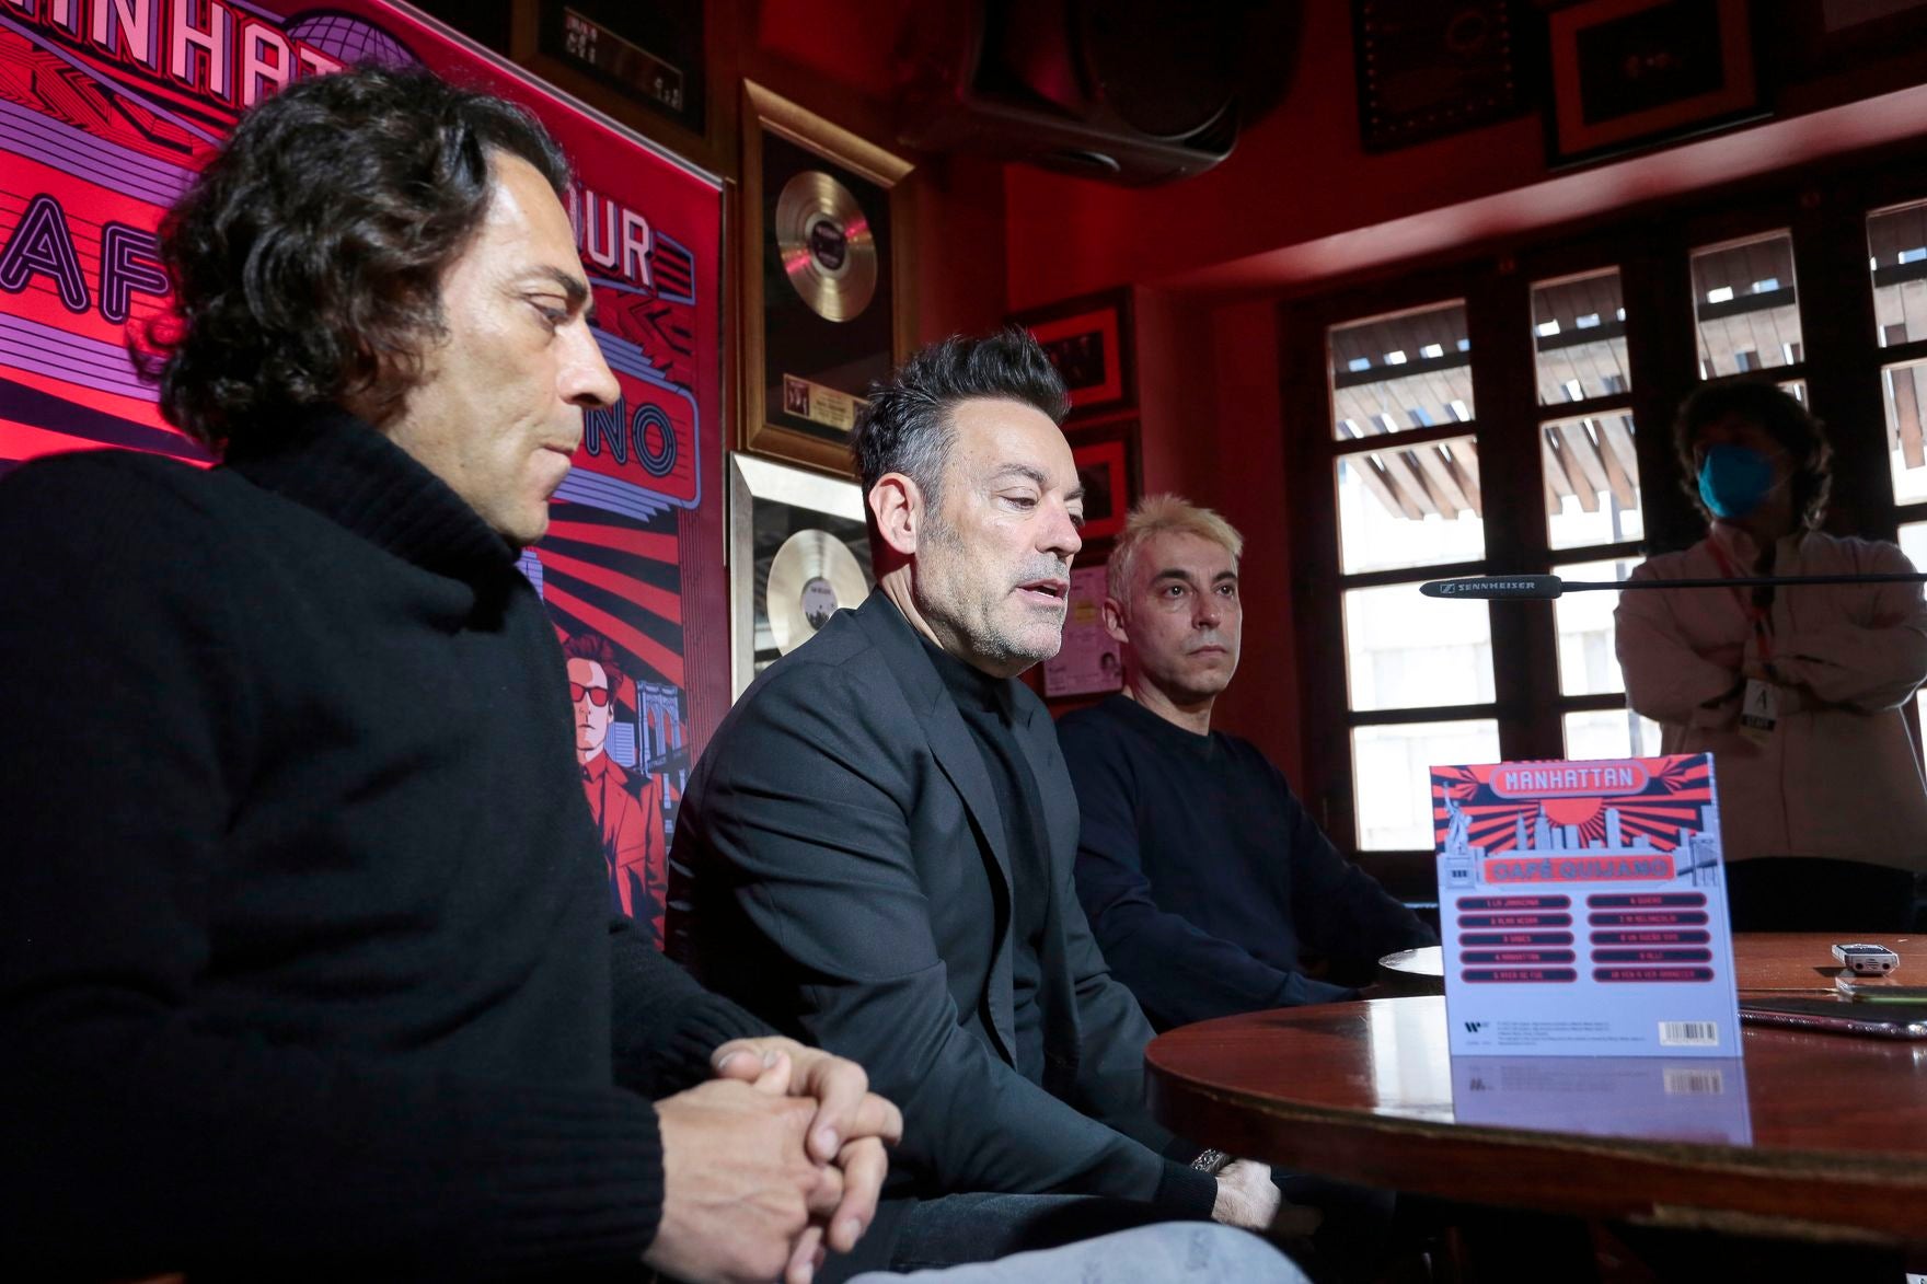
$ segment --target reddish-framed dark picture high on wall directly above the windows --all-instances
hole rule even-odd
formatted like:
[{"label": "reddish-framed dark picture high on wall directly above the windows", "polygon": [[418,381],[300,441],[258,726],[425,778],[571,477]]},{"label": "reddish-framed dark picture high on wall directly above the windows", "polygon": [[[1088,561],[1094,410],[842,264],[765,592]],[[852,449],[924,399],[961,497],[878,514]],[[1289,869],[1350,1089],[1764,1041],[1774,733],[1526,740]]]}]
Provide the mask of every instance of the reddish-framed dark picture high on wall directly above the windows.
[{"label": "reddish-framed dark picture high on wall directly above the windows", "polygon": [[1746,0],[1586,0],[1547,15],[1553,166],[1765,116]]}]

